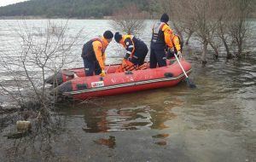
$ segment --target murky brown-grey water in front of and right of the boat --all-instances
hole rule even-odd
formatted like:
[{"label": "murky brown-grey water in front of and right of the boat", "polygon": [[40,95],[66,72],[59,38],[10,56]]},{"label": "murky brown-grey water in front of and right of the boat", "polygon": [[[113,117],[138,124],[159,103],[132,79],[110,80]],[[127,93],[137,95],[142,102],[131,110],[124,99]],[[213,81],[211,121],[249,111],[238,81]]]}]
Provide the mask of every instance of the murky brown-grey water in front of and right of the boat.
[{"label": "murky brown-grey water in front of and right of the boat", "polygon": [[[96,22],[102,25],[95,32],[108,29],[106,20]],[[207,67],[201,67],[188,53],[195,90],[183,82],[61,106],[64,130],[52,134],[49,145],[40,148],[35,142],[15,156],[9,153],[18,141],[3,137],[12,129],[6,128],[0,161],[256,161],[255,47],[251,55],[229,62],[209,56]]]}]

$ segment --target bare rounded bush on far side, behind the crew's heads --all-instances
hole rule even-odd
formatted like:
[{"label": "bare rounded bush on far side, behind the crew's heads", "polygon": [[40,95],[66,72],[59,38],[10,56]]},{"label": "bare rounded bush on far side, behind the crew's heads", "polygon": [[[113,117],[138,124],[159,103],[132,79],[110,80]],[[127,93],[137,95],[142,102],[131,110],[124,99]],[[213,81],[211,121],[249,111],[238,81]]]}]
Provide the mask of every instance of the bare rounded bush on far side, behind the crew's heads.
[{"label": "bare rounded bush on far side, behind the crew's heads", "polygon": [[145,27],[145,17],[146,14],[140,12],[135,4],[130,4],[113,14],[110,25],[116,31],[140,35]]}]

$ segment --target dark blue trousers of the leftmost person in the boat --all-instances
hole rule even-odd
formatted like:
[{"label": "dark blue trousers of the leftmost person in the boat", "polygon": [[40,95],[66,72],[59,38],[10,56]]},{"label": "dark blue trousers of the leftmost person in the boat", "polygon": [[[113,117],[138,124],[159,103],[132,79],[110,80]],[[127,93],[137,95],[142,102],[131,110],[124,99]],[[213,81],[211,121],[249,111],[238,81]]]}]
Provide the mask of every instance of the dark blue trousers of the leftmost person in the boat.
[{"label": "dark blue trousers of the leftmost person in the boat", "polygon": [[96,75],[99,75],[102,72],[102,68],[99,65],[98,61],[88,61],[87,59],[84,59],[84,71],[86,76],[92,76],[93,72],[95,72]]}]

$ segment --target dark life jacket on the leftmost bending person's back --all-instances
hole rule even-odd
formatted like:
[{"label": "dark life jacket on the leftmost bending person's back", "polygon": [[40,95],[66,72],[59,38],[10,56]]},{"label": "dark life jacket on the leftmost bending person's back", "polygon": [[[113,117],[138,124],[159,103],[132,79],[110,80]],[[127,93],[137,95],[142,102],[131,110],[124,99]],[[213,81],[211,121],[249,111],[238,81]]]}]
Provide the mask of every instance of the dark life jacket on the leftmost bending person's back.
[{"label": "dark life jacket on the leftmost bending person's back", "polygon": [[87,59],[88,61],[96,61],[96,54],[93,49],[92,43],[95,41],[99,41],[102,43],[102,55],[105,53],[106,48],[104,47],[104,43],[102,42],[101,38],[93,38],[87,43],[84,44],[83,50],[82,50],[82,57],[84,59]]}]

